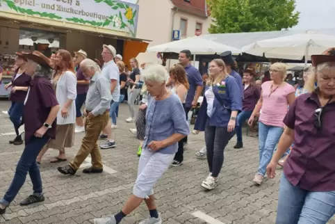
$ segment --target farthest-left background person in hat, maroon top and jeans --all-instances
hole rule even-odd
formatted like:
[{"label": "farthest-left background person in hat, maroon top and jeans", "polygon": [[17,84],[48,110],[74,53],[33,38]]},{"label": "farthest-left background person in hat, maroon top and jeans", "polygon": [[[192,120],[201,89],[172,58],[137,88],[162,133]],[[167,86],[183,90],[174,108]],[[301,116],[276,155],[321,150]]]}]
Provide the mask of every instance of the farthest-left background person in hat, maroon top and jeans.
[{"label": "farthest-left background person in hat, maroon top and jeans", "polygon": [[12,91],[9,97],[12,105],[8,111],[8,115],[14,125],[16,133],[16,137],[9,141],[9,143],[14,145],[21,145],[23,140],[21,135],[19,135],[19,127],[21,126],[24,99],[26,99],[26,93],[31,81],[31,77],[28,76],[24,70],[27,61],[26,57],[22,56],[22,54],[19,52],[16,52],[15,54],[17,55],[17,58],[15,59],[15,65],[17,65],[18,68],[15,70],[12,81],[10,81],[10,83],[8,83],[5,88],[7,90],[8,88],[12,87]]}]

